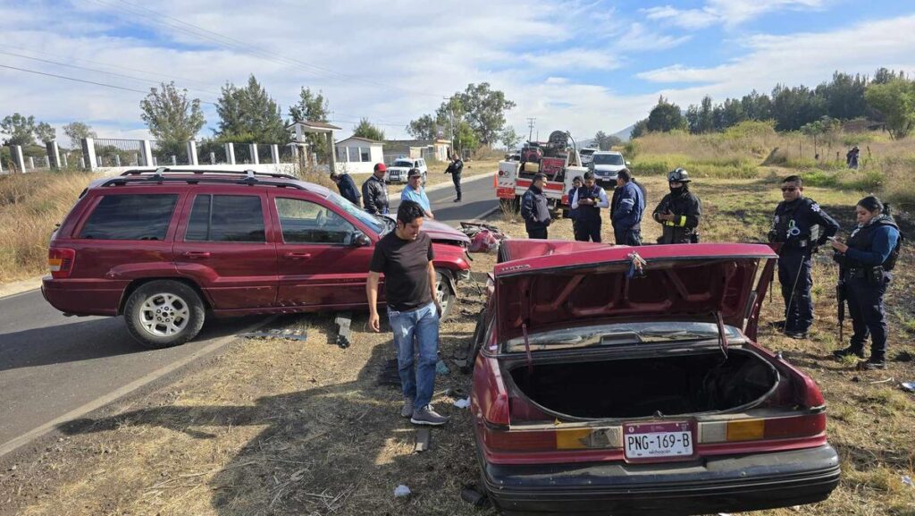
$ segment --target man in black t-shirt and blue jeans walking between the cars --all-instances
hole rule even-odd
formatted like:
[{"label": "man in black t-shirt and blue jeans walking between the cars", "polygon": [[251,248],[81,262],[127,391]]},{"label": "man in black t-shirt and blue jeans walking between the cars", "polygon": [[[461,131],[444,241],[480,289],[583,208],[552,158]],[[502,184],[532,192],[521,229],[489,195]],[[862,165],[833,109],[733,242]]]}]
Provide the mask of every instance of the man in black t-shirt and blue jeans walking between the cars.
[{"label": "man in black t-shirt and blue jeans walking between the cars", "polygon": [[[375,332],[381,331],[378,283],[384,274],[388,322],[394,335],[397,368],[404,390],[401,416],[410,418],[414,424],[437,426],[448,421],[430,404],[436,382],[438,318],[442,307],[436,296],[432,239],[420,232],[424,215],[419,203],[400,203],[397,227],[382,236],[371,255],[365,291],[369,298],[369,326]],[[419,355],[415,368],[414,342]]]}]

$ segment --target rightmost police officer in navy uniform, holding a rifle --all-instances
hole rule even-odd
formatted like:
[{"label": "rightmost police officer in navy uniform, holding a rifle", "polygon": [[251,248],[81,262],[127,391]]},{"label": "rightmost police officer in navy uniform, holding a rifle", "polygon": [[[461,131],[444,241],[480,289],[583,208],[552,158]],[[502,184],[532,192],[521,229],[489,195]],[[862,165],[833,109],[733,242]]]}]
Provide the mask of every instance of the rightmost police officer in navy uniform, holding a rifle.
[{"label": "rightmost police officer in navy uniform, holding a rifle", "polygon": [[850,346],[835,351],[834,355],[864,358],[864,343],[870,335],[870,358],[859,367],[885,369],[887,314],[883,308],[883,294],[892,280],[889,271],[896,265],[903,236],[889,214],[889,205],[873,195],[858,201],[855,213],[858,224],[848,237],[848,244],[838,240],[832,242],[855,329]]}]

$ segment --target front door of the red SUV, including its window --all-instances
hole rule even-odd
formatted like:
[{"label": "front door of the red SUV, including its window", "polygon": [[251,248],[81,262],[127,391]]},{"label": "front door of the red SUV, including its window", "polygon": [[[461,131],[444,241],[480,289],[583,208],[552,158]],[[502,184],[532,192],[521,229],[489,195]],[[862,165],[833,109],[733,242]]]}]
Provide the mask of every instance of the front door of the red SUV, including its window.
[{"label": "front door of the red SUV, including its window", "polygon": [[280,306],[350,308],[367,304],[374,249],[344,214],[318,196],[272,192]]}]

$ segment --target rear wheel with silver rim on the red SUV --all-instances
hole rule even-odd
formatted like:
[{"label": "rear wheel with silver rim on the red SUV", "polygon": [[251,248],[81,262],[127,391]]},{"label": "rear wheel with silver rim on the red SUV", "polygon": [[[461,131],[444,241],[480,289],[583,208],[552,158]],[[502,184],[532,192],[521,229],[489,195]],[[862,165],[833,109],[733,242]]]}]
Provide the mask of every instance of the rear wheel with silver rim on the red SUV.
[{"label": "rear wheel with silver rim on the red SUV", "polygon": [[206,307],[185,283],[155,280],[141,285],[124,305],[130,335],[150,349],[178,346],[200,333]]}]

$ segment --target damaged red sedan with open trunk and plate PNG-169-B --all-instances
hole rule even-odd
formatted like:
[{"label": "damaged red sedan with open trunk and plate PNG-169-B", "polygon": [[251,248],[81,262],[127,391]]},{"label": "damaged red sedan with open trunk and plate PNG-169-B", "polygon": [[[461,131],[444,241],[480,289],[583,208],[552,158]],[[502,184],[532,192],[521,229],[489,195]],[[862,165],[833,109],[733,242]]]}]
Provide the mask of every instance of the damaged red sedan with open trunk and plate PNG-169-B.
[{"label": "damaged red sedan with open trunk and plate PNG-169-B", "polygon": [[471,396],[496,507],[702,514],[826,499],[839,460],[823,395],[754,342],[775,258],[753,244],[504,242]]}]

